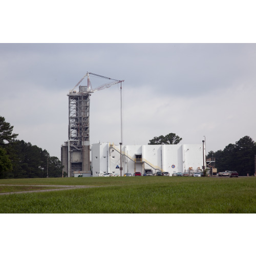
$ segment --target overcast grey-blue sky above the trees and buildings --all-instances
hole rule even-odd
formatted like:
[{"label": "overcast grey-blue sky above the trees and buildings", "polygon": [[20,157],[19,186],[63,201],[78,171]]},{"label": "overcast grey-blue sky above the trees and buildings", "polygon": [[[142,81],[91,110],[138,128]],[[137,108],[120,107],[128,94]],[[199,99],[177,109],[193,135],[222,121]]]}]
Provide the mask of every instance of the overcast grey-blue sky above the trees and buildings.
[{"label": "overcast grey-blue sky above the trees and buildings", "polygon": [[[68,140],[67,93],[87,71],[125,80],[124,144],[176,133],[206,136],[208,152],[256,140],[255,44],[0,44],[0,65],[0,115],[51,156]],[[91,144],[120,142],[119,86],[92,94],[90,130]]]}]

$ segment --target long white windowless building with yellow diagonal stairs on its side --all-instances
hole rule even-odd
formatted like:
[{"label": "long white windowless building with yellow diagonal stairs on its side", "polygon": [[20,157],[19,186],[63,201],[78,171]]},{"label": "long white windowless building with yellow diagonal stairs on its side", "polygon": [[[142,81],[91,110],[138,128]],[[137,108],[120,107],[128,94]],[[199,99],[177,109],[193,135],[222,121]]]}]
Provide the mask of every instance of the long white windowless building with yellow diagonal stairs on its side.
[{"label": "long white windowless building with yellow diagonal stairs on its side", "polygon": [[[168,172],[194,173],[202,170],[205,163],[202,144],[175,145],[114,145],[97,143],[91,146],[92,176],[99,173],[144,174]],[[120,167],[122,167],[120,173]]]}]

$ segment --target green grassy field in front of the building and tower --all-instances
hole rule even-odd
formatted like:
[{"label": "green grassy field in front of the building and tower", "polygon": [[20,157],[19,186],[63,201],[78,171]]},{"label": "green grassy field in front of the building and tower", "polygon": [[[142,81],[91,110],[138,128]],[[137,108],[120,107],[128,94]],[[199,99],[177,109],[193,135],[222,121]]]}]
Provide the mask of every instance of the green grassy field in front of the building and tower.
[{"label": "green grassy field in front of the building and tower", "polygon": [[18,185],[90,185],[0,195],[1,213],[255,213],[256,179],[91,177],[0,180]]}]

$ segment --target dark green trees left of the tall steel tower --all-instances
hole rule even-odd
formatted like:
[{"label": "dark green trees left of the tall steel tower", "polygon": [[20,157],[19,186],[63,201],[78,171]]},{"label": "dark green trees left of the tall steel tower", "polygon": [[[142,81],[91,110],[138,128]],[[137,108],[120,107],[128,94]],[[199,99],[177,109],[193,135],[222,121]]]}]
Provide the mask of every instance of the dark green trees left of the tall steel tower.
[{"label": "dark green trees left of the tall steel tower", "polygon": [[[13,126],[0,116],[0,179],[62,177],[62,165],[46,150],[12,134]],[[63,176],[67,174],[64,173]]]}]

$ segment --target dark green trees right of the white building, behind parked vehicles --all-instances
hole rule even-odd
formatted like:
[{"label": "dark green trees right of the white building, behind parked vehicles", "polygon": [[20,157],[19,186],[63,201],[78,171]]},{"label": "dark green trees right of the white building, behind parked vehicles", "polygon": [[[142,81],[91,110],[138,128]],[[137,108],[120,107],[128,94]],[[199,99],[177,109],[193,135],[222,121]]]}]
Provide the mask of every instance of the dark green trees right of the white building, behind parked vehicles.
[{"label": "dark green trees right of the white building, behind parked vehicles", "polygon": [[255,173],[256,143],[249,136],[245,136],[235,144],[227,145],[224,150],[210,151],[207,158],[215,158],[218,172],[236,170],[240,176]]}]

